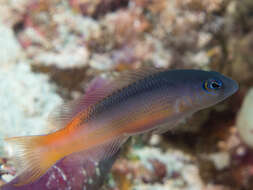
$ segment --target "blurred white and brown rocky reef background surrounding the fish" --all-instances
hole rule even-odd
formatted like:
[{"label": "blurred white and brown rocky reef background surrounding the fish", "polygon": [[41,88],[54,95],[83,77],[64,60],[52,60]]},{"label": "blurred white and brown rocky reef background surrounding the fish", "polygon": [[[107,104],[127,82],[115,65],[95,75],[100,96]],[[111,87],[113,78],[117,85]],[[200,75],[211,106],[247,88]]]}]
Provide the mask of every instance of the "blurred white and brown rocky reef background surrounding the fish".
[{"label": "blurred white and brown rocky reef background surrounding the fish", "polygon": [[16,171],[3,138],[40,134],[94,77],[146,65],[216,70],[240,90],[132,138],[97,189],[252,190],[252,0],[0,0],[0,185]]}]

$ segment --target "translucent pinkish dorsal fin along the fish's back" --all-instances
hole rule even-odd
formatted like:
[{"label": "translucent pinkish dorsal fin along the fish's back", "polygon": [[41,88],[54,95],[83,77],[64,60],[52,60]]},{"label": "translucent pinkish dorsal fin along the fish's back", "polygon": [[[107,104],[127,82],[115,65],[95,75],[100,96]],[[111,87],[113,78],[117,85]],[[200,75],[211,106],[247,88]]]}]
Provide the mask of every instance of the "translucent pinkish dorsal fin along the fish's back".
[{"label": "translucent pinkish dorsal fin along the fish's back", "polygon": [[137,70],[125,71],[113,80],[96,77],[86,89],[86,93],[77,100],[58,106],[49,115],[48,130],[50,132],[64,128],[73,117],[90,106],[103,100],[113,92],[127,87],[131,83],[141,80],[152,74],[162,72],[164,69],[154,67],[142,67]]}]

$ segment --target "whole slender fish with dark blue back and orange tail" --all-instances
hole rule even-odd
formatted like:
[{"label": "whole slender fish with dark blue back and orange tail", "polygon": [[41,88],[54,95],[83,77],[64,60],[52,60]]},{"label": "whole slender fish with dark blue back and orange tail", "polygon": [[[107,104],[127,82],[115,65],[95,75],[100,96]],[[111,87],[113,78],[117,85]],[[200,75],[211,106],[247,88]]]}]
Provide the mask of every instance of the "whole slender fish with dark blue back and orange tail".
[{"label": "whole slender fish with dark blue back and orange tail", "polygon": [[108,159],[129,137],[173,130],[237,90],[236,81],[215,71],[143,68],[114,80],[100,77],[84,96],[50,114],[51,132],[5,139],[19,168],[15,185],[34,183],[72,154],[94,162]]}]

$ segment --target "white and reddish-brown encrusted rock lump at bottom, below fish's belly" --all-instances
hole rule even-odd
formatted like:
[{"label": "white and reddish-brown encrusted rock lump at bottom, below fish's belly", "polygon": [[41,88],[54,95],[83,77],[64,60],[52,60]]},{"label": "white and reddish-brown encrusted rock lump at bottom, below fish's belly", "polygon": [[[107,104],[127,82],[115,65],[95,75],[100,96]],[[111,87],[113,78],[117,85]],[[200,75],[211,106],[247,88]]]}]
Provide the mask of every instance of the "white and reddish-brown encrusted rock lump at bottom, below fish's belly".
[{"label": "white and reddish-brown encrusted rock lump at bottom, below fish's belly", "polygon": [[[117,160],[112,169],[119,189],[202,189],[194,158],[181,151],[142,147],[129,152],[134,160]],[[132,183],[127,185],[127,181]],[[128,187],[126,187],[128,186]]]}]

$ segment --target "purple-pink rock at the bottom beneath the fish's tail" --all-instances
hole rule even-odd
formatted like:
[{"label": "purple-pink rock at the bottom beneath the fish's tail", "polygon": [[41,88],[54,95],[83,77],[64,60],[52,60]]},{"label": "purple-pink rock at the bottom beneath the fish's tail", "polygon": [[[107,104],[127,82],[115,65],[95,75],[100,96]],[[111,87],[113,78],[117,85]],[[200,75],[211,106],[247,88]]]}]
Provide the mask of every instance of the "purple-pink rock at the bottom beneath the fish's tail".
[{"label": "purple-pink rock at the bottom beneath the fish's tail", "polygon": [[12,182],[1,186],[1,190],[94,190],[100,189],[117,154],[108,160],[94,163],[84,159],[83,153],[77,153],[59,161],[39,180],[24,186],[15,186]]}]

